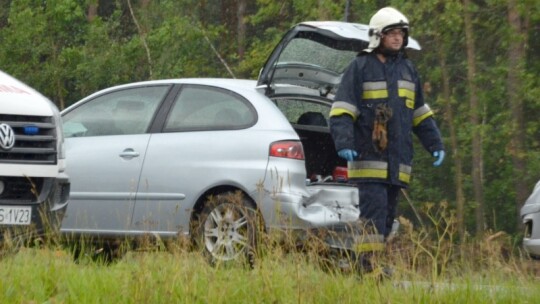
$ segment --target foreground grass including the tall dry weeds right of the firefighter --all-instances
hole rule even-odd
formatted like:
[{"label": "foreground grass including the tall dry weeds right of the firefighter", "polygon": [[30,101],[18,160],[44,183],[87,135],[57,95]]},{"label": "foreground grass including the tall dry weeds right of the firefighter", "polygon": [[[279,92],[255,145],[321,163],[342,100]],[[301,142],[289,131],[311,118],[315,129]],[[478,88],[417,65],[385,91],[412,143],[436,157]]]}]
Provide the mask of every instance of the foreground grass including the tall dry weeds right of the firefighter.
[{"label": "foreground grass including the tall dry weeds right of the firefighter", "polygon": [[[360,275],[322,267],[320,248],[277,245],[267,235],[253,268],[211,266],[186,242],[129,250],[112,263],[73,255],[61,242],[23,246],[0,259],[0,303],[536,303],[540,261],[504,233],[455,240],[444,204],[421,228],[401,219],[376,257],[390,265]],[[157,243],[159,245],[159,242]],[[83,252],[90,252],[88,250]],[[537,264],[538,263],[538,264]]]}]

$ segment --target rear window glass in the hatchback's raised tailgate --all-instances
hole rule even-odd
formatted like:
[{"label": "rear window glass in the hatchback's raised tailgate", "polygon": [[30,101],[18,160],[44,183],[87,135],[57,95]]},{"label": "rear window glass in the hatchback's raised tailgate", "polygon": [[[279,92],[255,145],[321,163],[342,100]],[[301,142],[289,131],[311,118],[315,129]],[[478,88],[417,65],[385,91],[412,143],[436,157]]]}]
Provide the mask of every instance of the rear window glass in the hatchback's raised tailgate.
[{"label": "rear window glass in the hatchback's raised tailgate", "polygon": [[342,74],[356,55],[356,51],[336,50],[311,39],[296,38],[283,50],[277,64],[303,64]]}]

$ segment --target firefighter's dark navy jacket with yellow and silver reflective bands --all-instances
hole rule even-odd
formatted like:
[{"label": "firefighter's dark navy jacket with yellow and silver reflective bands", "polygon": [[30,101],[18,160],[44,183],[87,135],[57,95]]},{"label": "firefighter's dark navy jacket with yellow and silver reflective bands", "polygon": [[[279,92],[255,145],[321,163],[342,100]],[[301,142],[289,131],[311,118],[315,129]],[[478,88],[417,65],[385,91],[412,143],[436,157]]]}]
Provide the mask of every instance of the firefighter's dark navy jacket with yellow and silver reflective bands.
[{"label": "firefighter's dark navy jacket with yellow and silver reflective bands", "polygon": [[[388,141],[381,148],[372,137],[376,112],[383,109],[389,117],[385,128]],[[343,75],[330,111],[336,150],[359,153],[348,163],[349,179],[407,186],[413,159],[412,133],[430,153],[444,149],[432,116],[424,104],[418,73],[403,53],[387,57],[386,63],[374,53],[356,57]]]}]

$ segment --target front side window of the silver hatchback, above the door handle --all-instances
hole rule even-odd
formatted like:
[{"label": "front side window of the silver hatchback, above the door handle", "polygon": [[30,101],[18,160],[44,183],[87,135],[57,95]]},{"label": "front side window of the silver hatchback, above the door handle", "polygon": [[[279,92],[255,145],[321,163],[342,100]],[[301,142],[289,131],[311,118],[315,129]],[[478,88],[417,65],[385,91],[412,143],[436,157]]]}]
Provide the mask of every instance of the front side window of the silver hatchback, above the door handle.
[{"label": "front side window of the silver hatchback, above the door handle", "polygon": [[66,113],[65,137],[145,133],[169,86],[128,88],[100,95]]}]

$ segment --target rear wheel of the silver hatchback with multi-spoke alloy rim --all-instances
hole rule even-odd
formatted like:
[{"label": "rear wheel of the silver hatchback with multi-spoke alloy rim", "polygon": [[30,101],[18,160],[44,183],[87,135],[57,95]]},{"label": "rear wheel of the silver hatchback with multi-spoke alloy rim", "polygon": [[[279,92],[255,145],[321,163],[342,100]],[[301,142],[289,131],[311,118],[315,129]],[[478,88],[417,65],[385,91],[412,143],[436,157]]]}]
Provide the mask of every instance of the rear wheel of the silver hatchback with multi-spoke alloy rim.
[{"label": "rear wheel of the silver hatchback with multi-spoke alloy rim", "polygon": [[193,226],[193,241],[214,266],[253,267],[259,217],[251,200],[239,192],[211,196]]}]

